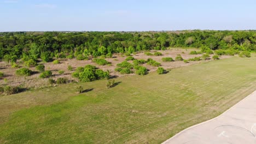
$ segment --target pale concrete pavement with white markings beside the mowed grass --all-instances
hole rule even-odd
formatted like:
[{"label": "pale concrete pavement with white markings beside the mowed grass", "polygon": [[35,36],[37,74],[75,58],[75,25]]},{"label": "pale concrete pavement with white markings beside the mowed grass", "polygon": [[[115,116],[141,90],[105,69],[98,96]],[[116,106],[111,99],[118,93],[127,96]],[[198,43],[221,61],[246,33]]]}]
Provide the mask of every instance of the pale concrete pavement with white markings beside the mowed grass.
[{"label": "pale concrete pavement with white markings beside the mowed grass", "polygon": [[256,143],[256,91],[222,115],[181,131],[164,142],[175,144]]}]

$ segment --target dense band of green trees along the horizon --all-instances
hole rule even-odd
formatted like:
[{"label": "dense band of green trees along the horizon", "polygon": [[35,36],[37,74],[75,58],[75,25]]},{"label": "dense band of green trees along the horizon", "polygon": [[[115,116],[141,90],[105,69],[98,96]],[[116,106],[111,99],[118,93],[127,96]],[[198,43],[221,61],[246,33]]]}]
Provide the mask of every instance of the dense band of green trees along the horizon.
[{"label": "dense band of green trees along the horizon", "polygon": [[176,32],[2,32],[0,58],[55,58],[79,60],[112,53],[165,50],[168,47],[256,50],[256,31],[176,31]]}]

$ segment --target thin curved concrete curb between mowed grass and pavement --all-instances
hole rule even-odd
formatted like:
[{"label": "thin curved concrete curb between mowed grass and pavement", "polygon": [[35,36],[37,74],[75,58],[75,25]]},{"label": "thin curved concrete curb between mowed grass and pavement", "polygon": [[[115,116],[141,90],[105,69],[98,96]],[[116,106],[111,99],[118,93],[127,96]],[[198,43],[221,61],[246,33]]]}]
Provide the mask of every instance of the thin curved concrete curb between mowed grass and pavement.
[{"label": "thin curved concrete curb between mowed grass and pavement", "polygon": [[162,144],[167,144],[167,143],[169,143],[169,141],[171,141],[172,139],[176,138],[178,135],[181,135],[184,131],[187,131],[187,130],[189,130],[189,129],[192,129],[192,128],[194,128],[194,127],[197,127],[197,126],[199,126],[199,125],[202,125],[202,124],[211,122],[211,121],[213,121],[214,119],[219,118],[220,116],[224,115],[224,113],[230,111],[230,110],[231,110],[233,107],[235,107],[236,105],[242,103],[242,101],[245,101],[246,99],[248,99],[248,98],[249,98],[251,95],[253,95],[254,93],[256,93],[256,91],[254,91],[254,92],[252,92],[251,94],[247,95],[244,99],[240,100],[238,103],[236,103],[235,105],[231,106],[228,110],[224,111],[224,112],[223,112],[222,114],[220,114],[219,116],[214,117],[214,118],[212,118],[212,119],[209,119],[208,121],[205,121],[205,122],[202,122],[202,123],[199,123],[199,124],[196,124],[196,125],[192,125],[191,127],[188,127],[188,128],[186,128],[186,129],[180,131],[180,132],[177,133],[176,135],[172,136],[170,139],[168,139],[168,140],[162,142]]}]

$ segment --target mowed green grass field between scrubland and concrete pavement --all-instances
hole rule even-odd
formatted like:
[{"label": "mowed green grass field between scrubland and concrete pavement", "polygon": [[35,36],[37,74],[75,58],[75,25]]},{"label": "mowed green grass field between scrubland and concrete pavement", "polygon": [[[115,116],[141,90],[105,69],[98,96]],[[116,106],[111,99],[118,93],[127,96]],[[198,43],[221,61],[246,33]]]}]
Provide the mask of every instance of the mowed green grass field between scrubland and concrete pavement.
[{"label": "mowed green grass field between scrubland and concrete pavement", "polygon": [[[256,57],[232,57],[0,97],[0,143],[161,143],[255,90]],[[75,94],[74,87],[89,89]]]}]

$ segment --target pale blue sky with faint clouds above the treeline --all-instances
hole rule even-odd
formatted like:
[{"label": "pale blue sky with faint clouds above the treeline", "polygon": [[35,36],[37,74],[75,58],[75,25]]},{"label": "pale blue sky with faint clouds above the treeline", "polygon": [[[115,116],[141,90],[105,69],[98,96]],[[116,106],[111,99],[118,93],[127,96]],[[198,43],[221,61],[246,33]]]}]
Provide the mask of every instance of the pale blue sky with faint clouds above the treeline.
[{"label": "pale blue sky with faint clouds above the treeline", "polygon": [[255,0],[0,0],[0,31],[256,29]]}]

